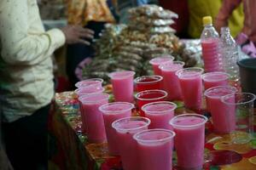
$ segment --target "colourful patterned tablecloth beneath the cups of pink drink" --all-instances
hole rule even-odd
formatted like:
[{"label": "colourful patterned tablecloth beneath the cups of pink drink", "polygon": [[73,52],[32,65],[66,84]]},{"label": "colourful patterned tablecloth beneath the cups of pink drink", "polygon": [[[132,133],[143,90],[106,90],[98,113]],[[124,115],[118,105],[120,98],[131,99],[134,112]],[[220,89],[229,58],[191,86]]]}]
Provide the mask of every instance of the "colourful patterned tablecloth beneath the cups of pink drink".
[{"label": "colourful patterned tablecloth beneath the cups of pink drink", "polygon": [[[186,111],[176,102],[176,114]],[[210,117],[207,112],[205,116]],[[73,92],[56,94],[55,110],[49,122],[49,169],[55,170],[121,170],[118,156],[109,156],[107,144],[89,144],[81,132],[79,103]],[[211,118],[210,118],[211,120]],[[193,151],[193,150],[191,150]],[[173,164],[177,162],[174,152]],[[173,168],[174,170],[177,167]],[[255,170],[256,140],[247,144],[232,144],[229,135],[212,133],[212,123],[206,124],[206,170]]]}]

